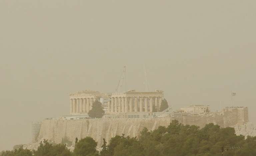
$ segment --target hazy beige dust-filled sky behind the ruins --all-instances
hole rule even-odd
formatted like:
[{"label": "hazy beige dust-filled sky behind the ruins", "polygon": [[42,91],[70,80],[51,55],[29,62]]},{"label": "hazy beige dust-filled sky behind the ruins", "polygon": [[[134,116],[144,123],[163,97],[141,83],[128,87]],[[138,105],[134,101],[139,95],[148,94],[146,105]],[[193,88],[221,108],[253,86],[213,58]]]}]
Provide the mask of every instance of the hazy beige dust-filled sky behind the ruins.
[{"label": "hazy beige dust-filled sky behind the ruins", "polygon": [[70,92],[113,92],[124,65],[126,90],[145,90],[145,64],[174,109],[233,91],[256,123],[255,28],[255,0],[0,0],[0,150],[68,114]]}]

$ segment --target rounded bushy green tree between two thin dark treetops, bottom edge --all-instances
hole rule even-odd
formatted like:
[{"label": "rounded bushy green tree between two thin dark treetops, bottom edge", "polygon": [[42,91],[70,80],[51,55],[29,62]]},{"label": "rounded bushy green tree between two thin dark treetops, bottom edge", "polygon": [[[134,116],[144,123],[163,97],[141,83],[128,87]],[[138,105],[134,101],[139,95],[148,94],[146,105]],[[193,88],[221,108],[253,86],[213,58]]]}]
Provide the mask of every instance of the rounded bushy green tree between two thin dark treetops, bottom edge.
[{"label": "rounded bushy green tree between two thin dark treetops, bottom edge", "polygon": [[91,137],[85,137],[76,143],[74,154],[76,156],[97,156],[97,142]]}]

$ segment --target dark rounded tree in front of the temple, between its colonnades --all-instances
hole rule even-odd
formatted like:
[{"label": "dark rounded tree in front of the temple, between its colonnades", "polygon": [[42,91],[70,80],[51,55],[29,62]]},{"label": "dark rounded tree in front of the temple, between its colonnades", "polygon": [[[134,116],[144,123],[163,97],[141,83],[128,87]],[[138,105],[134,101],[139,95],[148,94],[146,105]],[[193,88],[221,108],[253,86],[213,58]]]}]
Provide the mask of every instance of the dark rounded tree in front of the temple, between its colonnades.
[{"label": "dark rounded tree in front of the temple, between its colonnades", "polygon": [[88,115],[91,118],[102,118],[104,113],[102,103],[96,100],[93,102],[92,109],[88,112]]}]

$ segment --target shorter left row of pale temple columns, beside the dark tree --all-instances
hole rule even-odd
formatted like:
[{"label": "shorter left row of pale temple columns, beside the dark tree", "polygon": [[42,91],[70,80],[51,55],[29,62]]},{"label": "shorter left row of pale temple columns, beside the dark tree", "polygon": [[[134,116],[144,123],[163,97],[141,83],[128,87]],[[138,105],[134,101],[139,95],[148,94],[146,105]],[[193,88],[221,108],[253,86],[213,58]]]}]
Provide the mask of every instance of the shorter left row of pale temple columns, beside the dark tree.
[{"label": "shorter left row of pale temple columns, beside the dark tree", "polygon": [[70,99],[70,114],[88,113],[92,109],[92,104],[96,98],[71,98]]}]

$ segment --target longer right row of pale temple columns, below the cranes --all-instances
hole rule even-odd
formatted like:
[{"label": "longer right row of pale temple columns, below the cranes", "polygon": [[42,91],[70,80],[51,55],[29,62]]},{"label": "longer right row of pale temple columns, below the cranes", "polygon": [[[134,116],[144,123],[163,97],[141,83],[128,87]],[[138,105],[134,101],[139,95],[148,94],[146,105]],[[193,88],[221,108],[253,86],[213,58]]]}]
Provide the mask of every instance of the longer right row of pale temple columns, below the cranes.
[{"label": "longer right row of pale temple columns, below the cranes", "polygon": [[108,110],[113,113],[127,112],[153,112],[153,107],[158,111],[162,97],[111,97]]}]

